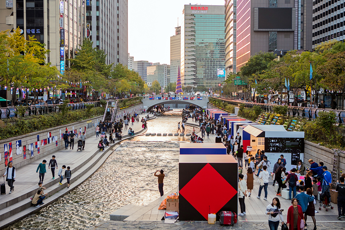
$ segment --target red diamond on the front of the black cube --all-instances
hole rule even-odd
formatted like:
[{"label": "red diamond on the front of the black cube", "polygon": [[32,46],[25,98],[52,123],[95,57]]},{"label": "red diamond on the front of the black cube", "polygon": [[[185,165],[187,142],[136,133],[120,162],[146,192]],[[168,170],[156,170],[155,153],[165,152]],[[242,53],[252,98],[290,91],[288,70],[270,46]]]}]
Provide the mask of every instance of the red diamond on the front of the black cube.
[{"label": "red diamond on the front of the black cube", "polygon": [[180,189],[180,194],[207,220],[209,206],[211,213],[217,213],[237,190],[207,163]]}]

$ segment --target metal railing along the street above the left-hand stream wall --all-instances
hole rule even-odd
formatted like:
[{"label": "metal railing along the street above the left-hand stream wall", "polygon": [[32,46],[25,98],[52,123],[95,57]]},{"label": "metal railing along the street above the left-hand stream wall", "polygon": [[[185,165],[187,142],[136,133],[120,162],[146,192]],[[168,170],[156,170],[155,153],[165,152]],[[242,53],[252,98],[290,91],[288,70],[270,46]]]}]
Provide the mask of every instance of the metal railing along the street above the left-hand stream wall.
[{"label": "metal railing along the street above the left-hand stream wall", "polygon": [[[78,110],[78,109],[86,109],[87,104],[95,104],[95,107],[100,106],[99,101],[91,101],[91,102],[80,102],[80,103],[69,103],[67,104],[71,110]],[[24,113],[24,117],[32,116],[32,115],[43,115],[49,113],[57,113],[60,112],[60,104],[47,104],[41,106],[23,106],[26,108]],[[17,113],[17,107],[4,107],[0,108],[0,119],[7,119],[7,118],[15,118],[21,117],[20,114]]]}]

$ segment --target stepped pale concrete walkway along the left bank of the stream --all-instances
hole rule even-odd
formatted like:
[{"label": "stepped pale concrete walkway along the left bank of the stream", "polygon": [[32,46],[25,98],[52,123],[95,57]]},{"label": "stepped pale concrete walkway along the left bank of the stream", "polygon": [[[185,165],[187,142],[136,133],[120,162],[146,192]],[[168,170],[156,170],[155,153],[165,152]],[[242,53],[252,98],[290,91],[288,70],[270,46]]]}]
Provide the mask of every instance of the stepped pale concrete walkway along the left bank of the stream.
[{"label": "stepped pale concrete walkway along the left bank of the stream", "polygon": [[[153,115],[150,119],[153,119]],[[141,122],[135,122],[134,125],[129,123],[129,128],[135,131],[136,136],[145,132],[146,129],[141,128]],[[127,134],[128,130],[122,130],[122,140],[130,138]],[[109,140],[109,134],[108,140]],[[56,161],[58,167],[55,170],[55,179],[52,179],[52,172],[48,169],[49,160],[51,156],[46,156],[40,158],[26,166],[16,169],[16,181],[14,182],[14,191],[9,194],[9,186],[6,184],[6,194],[0,196],[0,229],[8,226],[9,224],[17,221],[20,218],[27,216],[28,214],[34,213],[42,207],[46,207],[59,197],[70,192],[87,178],[89,178],[97,169],[103,164],[107,157],[112,152],[112,147],[117,143],[121,142],[115,139],[115,143],[111,144],[111,147],[106,147],[105,151],[100,151],[97,148],[100,138],[96,138],[96,134],[92,137],[86,139],[85,150],[77,151],[78,139],[75,139],[74,149],[62,149],[54,153],[56,156]],[[63,140],[59,144],[64,144]],[[53,154],[52,154],[53,155]],[[43,187],[47,188],[45,193],[48,193],[48,199],[44,201],[44,205],[37,208],[31,204],[31,199],[38,191],[39,173],[36,173],[39,163],[46,160],[46,170],[45,179],[43,182]],[[67,180],[62,181],[62,185],[59,185],[60,178],[57,173],[62,165],[71,167],[72,177],[70,180],[70,188],[67,189]],[[16,165],[14,165],[16,167]],[[62,172],[64,177],[65,170]]]}]

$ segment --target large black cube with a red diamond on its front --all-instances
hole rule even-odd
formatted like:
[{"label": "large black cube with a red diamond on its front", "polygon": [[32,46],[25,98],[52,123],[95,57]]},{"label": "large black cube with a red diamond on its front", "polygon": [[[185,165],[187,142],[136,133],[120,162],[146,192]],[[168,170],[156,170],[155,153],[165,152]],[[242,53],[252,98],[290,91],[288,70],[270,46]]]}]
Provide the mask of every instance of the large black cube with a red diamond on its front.
[{"label": "large black cube with a red diamond on its front", "polygon": [[179,187],[182,221],[207,221],[209,210],[237,213],[238,164],[231,155],[180,155]]}]

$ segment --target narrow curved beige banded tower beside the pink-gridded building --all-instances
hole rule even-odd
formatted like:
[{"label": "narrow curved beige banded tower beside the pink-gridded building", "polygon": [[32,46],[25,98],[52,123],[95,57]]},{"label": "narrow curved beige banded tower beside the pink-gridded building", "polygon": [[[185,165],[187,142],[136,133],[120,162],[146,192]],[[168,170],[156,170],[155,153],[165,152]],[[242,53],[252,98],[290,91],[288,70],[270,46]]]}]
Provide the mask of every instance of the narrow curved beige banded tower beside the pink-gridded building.
[{"label": "narrow curved beige banded tower beside the pink-gridded building", "polygon": [[236,0],[225,1],[225,72],[236,73]]}]

